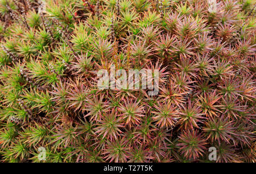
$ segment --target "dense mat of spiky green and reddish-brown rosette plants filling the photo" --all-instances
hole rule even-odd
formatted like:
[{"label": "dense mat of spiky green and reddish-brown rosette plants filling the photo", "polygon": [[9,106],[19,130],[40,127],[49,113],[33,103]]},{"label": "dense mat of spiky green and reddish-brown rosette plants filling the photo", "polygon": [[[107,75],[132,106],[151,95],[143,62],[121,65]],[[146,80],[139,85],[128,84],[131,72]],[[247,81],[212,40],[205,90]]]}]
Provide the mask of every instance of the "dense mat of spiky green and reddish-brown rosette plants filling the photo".
[{"label": "dense mat of spiky green and reddish-brown rosette plants filling the photo", "polygon": [[[216,3],[1,0],[0,161],[254,162],[255,5]],[[111,65],[158,95],[98,89]]]}]

